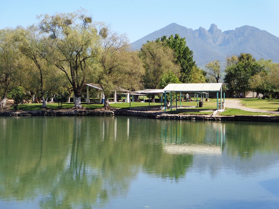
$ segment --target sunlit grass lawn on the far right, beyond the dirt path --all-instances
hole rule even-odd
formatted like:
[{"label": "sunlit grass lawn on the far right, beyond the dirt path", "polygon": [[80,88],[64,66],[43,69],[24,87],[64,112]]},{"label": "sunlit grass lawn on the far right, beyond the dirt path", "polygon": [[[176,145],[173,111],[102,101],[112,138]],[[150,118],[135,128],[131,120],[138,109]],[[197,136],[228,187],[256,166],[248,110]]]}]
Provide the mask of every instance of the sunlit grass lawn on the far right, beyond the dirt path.
[{"label": "sunlit grass lawn on the far right, beyond the dirt path", "polygon": [[273,100],[273,102],[269,102],[268,100],[262,100],[257,98],[245,98],[241,99],[241,104],[246,107],[262,109],[262,110],[278,110],[279,100]]}]

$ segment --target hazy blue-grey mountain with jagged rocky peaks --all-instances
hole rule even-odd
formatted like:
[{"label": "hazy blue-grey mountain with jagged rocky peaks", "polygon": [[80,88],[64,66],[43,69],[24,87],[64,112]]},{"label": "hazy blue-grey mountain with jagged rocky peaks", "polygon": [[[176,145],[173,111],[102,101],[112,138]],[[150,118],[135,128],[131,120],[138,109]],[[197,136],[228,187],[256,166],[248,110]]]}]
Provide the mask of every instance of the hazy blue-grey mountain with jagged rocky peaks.
[{"label": "hazy blue-grey mountain with jagged rocky peaks", "polygon": [[148,40],[176,33],[186,38],[187,46],[193,51],[194,60],[201,68],[215,59],[224,66],[227,56],[240,53],[251,53],[256,60],[263,57],[279,62],[279,38],[247,25],[222,32],[215,24],[211,24],[208,30],[202,27],[193,30],[172,23],[131,43],[131,46],[133,50],[140,49]]}]

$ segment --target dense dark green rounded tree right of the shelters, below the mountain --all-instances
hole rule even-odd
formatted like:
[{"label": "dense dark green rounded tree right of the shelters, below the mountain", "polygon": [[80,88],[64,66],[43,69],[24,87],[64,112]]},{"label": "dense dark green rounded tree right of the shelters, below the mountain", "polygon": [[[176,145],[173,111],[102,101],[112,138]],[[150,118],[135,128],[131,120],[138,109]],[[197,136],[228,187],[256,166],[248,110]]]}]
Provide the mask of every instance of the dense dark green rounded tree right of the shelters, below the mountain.
[{"label": "dense dark green rounded tree right of the shelters, below the mountain", "polygon": [[231,91],[245,92],[251,89],[251,77],[258,71],[262,71],[262,66],[256,62],[255,58],[251,54],[241,53],[237,59],[235,56],[227,58],[224,81]]}]

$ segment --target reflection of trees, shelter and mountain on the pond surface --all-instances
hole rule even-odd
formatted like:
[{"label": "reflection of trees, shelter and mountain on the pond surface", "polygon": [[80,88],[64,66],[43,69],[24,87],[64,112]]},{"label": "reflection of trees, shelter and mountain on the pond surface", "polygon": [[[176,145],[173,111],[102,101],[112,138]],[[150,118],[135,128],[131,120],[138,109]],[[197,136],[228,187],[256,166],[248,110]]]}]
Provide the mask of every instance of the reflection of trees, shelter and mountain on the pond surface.
[{"label": "reflection of trees, shelter and mountain on the pond surface", "polygon": [[0,133],[0,202],[34,208],[105,207],[139,174],[176,183],[207,170],[254,175],[279,153],[278,128],[264,123],[0,118]]}]

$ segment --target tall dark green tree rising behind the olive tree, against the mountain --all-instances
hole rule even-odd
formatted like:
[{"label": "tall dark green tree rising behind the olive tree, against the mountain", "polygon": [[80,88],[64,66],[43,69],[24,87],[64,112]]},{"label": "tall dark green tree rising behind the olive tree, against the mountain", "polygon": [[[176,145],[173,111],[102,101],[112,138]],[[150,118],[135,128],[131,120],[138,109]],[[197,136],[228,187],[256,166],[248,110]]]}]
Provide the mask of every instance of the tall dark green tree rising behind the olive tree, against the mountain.
[{"label": "tall dark green tree rising behind the olive tree, against the mountain", "polygon": [[196,62],[193,61],[193,51],[189,49],[185,38],[180,38],[178,34],[162,36],[156,42],[162,42],[174,51],[174,63],[180,66],[180,81],[183,83],[192,82],[192,75]]}]

